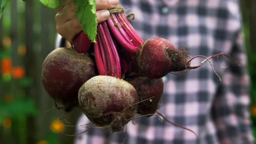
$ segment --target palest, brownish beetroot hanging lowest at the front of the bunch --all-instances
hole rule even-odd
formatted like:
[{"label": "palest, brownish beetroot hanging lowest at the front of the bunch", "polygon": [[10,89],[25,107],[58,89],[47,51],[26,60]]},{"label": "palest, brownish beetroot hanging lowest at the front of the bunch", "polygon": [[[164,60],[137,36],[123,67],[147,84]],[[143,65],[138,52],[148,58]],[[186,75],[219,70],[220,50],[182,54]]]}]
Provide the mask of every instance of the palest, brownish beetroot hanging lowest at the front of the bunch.
[{"label": "palest, brownish beetroot hanging lowest at the front of the bunch", "polygon": [[98,75],[79,89],[79,105],[96,126],[122,131],[136,114],[138,94],[128,82],[112,76]]}]

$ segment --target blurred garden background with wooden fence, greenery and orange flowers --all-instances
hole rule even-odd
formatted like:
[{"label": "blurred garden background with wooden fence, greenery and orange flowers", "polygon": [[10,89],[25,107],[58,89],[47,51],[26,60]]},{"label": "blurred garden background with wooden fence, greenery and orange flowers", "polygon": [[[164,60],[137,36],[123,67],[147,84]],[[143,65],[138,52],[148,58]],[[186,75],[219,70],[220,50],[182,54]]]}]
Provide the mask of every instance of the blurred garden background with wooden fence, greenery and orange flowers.
[{"label": "blurred garden background with wooden fence, greenery and orange flowers", "polygon": [[[38,0],[9,0],[0,19],[0,144],[72,144],[79,109],[63,113],[41,82],[44,58],[55,48],[54,10]],[[241,0],[256,137],[256,0]],[[253,33],[255,32],[255,33]]]}]

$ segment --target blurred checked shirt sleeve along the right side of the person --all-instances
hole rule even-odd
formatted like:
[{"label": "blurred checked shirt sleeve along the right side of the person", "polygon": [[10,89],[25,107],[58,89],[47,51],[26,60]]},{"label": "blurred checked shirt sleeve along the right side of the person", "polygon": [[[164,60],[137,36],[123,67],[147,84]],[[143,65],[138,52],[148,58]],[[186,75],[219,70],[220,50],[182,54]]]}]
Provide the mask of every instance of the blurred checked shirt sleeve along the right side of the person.
[{"label": "blurred checked shirt sleeve along the right side of the person", "polygon": [[246,55],[243,51],[240,31],[234,36],[230,60],[224,70],[222,82],[213,101],[213,119],[220,144],[253,144],[249,121],[249,76],[246,73]]}]

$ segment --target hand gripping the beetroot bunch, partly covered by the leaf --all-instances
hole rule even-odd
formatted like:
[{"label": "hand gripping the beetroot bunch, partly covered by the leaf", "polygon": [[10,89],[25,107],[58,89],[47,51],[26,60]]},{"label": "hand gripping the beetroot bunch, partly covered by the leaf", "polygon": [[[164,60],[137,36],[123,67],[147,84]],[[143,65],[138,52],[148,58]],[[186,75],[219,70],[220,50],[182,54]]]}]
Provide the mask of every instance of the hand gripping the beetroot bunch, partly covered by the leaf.
[{"label": "hand gripping the beetroot bunch, partly covered by the leaf", "polygon": [[[108,9],[116,7],[118,2],[118,0],[96,0],[97,22],[102,23],[107,20],[110,15]],[[75,13],[76,7],[73,0],[62,0],[61,5],[56,8],[56,11],[57,32],[72,43],[75,35],[82,31],[82,25]]]}]

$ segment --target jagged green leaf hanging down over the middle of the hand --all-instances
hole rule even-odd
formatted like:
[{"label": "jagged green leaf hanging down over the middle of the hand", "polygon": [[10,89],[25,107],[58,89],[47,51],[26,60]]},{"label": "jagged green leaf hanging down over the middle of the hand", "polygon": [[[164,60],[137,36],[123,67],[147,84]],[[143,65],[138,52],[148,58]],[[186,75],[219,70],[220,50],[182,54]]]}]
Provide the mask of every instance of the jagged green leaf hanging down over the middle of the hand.
[{"label": "jagged green leaf hanging down over the middle of the hand", "polygon": [[96,0],[74,0],[77,7],[76,15],[82,24],[82,29],[92,43],[97,35]]}]

